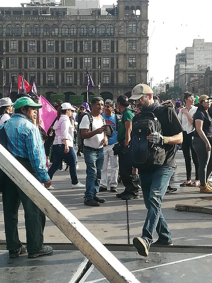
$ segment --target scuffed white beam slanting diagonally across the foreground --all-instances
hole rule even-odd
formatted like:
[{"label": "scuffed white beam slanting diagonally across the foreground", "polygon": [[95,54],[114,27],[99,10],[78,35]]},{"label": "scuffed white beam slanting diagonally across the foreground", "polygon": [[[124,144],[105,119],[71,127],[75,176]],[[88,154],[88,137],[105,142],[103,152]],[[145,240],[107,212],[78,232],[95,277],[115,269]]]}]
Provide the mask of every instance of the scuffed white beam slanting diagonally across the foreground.
[{"label": "scuffed white beam slanting diagonally across the foreground", "polygon": [[89,230],[1,144],[0,168],[112,283],[139,283]]}]

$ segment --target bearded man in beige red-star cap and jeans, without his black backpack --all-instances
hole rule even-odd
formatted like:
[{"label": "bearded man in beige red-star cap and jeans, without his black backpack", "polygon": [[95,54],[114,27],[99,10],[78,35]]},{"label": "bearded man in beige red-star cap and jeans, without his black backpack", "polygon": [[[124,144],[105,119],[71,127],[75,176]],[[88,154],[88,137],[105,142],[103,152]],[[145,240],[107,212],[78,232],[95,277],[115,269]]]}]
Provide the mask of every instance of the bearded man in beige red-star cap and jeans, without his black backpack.
[{"label": "bearded man in beige red-star cap and jeans, without his black backpack", "polygon": [[[165,161],[163,165],[155,168],[150,167],[152,169],[148,170],[138,168],[144,203],[148,209],[148,213],[143,226],[142,236],[135,237],[133,244],[140,255],[148,256],[155,230],[158,233],[158,240],[154,243],[155,245],[172,245],[171,234],[161,212],[161,206],[163,196],[175,168],[175,145],[181,144],[183,141],[183,128],[172,107],[160,106],[158,101],[154,101],[153,91],[148,85],[143,83],[136,85],[129,99],[135,101],[136,106],[141,112],[153,112],[155,114],[160,122],[162,134],[154,132],[148,135],[146,139],[150,144],[164,144],[165,149]],[[164,107],[163,111],[160,111],[160,115],[159,107]],[[145,136],[146,134],[143,133],[144,139]]]}]

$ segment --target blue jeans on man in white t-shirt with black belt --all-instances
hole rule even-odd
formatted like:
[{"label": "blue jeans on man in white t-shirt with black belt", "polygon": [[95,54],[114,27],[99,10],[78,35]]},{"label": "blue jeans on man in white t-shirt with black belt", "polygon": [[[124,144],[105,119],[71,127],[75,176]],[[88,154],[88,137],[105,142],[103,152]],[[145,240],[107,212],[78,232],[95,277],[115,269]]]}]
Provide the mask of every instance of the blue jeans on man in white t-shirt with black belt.
[{"label": "blue jeans on man in white t-shirt with black belt", "polygon": [[100,151],[84,148],[83,153],[86,164],[85,200],[90,200],[94,198],[99,191],[104,154],[103,148],[100,149]]}]

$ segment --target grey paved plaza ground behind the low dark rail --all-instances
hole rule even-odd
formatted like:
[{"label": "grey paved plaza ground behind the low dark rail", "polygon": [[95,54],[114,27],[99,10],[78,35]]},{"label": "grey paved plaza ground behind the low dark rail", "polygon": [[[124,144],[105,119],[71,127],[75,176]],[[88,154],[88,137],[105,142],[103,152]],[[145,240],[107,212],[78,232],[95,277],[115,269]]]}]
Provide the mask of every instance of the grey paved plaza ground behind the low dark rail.
[{"label": "grey paved plaza ground behind the low dark rail", "polygon": [[[170,184],[172,187],[179,189],[175,193],[166,193],[162,209],[172,233],[173,244],[211,246],[212,215],[175,211],[176,204],[212,206],[212,195],[201,194],[199,188],[196,187],[179,187],[179,184],[185,181],[185,165],[181,151],[177,153],[176,160],[178,168],[174,170]],[[78,164],[80,166],[80,169],[77,170],[78,178],[80,182],[85,184],[83,156],[79,158]],[[52,185],[55,190],[50,192],[102,243],[128,243],[129,240],[132,243],[133,237],[141,234],[147,213],[141,192],[140,199],[126,202],[116,198],[116,193],[111,193],[108,186],[109,190],[107,192],[99,193],[99,196],[105,198],[106,202],[99,207],[89,207],[83,205],[85,190],[70,188],[69,172],[56,172]],[[122,190],[123,185],[120,183],[118,191],[121,192]],[[19,209],[19,236],[21,241],[26,241],[22,206]],[[156,234],[155,239],[157,239]],[[0,240],[5,240],[2,201],[0,201]],[[66,236],[48,218],[44,231],[44,240],[48,243],[69,242]]]}]

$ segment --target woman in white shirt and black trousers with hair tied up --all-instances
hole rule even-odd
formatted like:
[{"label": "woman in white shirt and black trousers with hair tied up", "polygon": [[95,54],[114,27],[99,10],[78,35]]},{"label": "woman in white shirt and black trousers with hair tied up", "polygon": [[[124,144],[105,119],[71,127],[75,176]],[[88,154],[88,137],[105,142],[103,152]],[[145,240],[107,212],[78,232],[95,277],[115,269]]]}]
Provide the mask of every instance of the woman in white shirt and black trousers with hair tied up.
[{"label": "woman in white shirt and black trousers with hair tied up", "polygon": [[[183,143],[182,150],[185,159],[186,181],[180,184],[180,187],[198,187],[200,185],[198,169],[199,163],[197,154],[192,146],[192,137],[195,129],[193,128],[193,116],[197,111],[196,106],[193,105],[195,101],[194,95],[191,92],[184,93],[185,107],[179,111],[178,118],[183,126]],[[195,166],[195,181],[191,182],[191,157]]]}]

